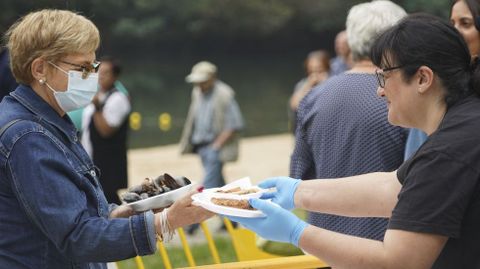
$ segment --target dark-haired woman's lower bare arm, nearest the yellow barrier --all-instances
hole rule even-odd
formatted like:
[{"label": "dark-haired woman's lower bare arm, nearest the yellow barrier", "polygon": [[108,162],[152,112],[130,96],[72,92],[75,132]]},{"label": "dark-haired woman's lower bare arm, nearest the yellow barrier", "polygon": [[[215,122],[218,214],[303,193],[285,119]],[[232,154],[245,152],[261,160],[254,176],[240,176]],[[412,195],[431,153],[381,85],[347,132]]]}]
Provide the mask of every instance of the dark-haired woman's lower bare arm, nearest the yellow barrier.
[{"label": "dark-haired woman's lower bare arm, nearest the yellow barrier", "polygon": [[427,269],[432,267],[447,239],[434,234],[387,230],[381,242],[308,226],[299,247],[332,268]]}]

